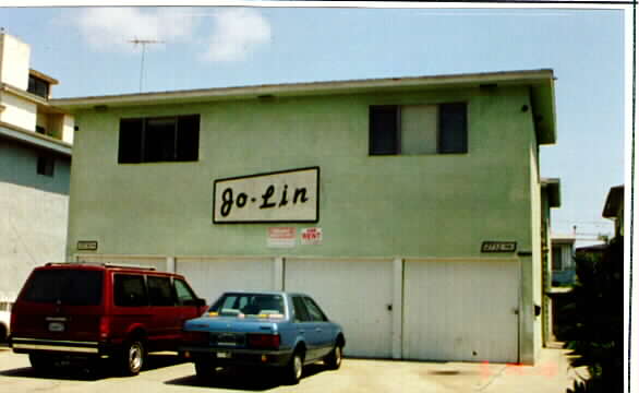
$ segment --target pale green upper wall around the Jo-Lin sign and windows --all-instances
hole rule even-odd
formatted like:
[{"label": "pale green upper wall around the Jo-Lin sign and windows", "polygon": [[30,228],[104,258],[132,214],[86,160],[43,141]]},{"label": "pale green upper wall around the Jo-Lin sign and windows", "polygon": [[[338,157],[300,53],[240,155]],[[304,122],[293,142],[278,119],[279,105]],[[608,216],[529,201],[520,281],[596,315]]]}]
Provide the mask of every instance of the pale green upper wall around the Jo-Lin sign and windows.
[{"label": "pale green upper wall around the Jo-Lin sign and windows", "polygon": [[[369,105],[458,100],[469,103],[468,154],[369,156]],[[68,253],[77,240],[114,254],[482,257],[483,240],[530,250],[534,135],[523,105],[527,88],[80,112]],[[201,114],[197,163],[117,164],[120,117],[180,114]],[[322,227],[322,246],[269,249],[276,224],[212,223],[214,179],[308,166],[321,167],[319,223],[292,226]]]}]

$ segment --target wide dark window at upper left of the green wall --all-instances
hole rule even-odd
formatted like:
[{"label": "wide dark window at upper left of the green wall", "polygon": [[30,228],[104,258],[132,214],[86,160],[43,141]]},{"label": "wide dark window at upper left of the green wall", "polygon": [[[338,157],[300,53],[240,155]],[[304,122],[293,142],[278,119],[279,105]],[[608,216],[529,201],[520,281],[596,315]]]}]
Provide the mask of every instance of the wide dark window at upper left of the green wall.
[{"label": "wide dark window at upper left of the green wall", "polygon": [[119,164],[197,160],[200,115],[121,119]]}]

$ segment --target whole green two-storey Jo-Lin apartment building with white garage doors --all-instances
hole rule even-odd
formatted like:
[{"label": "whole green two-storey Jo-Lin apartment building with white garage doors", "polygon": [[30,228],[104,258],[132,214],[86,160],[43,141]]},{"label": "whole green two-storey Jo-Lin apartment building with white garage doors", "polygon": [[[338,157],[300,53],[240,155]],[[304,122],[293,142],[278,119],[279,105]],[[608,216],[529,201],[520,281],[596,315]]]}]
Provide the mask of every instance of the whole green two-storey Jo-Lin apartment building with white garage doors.
[{"label": "whole green two-storey Jo-Lin apartment building with white garage doors", "polygon": [[177,271],[209,301],[310,293],[351,356],[538,358],[551,70],[55,104],[79,126],[69,260]]}]

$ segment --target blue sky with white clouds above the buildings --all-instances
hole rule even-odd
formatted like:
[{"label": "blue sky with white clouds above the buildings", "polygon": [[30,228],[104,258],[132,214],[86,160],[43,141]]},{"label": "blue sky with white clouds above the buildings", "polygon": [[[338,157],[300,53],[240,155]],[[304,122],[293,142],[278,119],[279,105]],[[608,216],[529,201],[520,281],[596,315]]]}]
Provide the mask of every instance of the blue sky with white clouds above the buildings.
[{"label": "blue sky with white clouds above the buildings", "polygon": [[[55,98],[137,93],[141,86],[164,92],[553,69],[557,143],[540,150],[541,176],[562,182],[553,234],[569,235],[577,226],[578,246],[613,234],[602,211],[610,188],[625,179],[630,8],[258,3],[5,5],[0,26],[32,46],[32,68],[60,81]],[[156,43],[143,47],[135,39]]]}]

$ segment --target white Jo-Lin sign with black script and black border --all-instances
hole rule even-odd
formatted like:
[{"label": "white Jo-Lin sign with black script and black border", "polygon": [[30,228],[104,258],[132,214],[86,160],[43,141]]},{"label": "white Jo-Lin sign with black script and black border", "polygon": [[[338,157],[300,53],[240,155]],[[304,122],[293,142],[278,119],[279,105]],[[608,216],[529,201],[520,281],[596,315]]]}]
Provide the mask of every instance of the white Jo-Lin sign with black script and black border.
[{"label": "white Jo-Lin sign with black script and black border", "polygon": [[218,179],[213,195],[215,224],[316,223],[319,168]]}]

